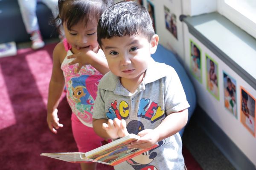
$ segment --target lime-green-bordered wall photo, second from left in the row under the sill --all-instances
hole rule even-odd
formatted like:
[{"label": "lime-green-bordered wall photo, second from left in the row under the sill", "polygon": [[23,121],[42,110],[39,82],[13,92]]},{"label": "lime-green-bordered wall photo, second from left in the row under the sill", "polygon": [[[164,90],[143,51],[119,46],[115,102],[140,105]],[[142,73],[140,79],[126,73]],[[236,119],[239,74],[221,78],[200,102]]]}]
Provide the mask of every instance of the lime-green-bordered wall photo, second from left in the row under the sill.
[{"label": "lime-green-bordered wall photo, second from left in the row under the sill", "polygon": [[217,100],[219,96],[219,85],[218,85],[218,63],[215,62],[208,54],[205,54],[206,61],[206,87],[207,90]]}]

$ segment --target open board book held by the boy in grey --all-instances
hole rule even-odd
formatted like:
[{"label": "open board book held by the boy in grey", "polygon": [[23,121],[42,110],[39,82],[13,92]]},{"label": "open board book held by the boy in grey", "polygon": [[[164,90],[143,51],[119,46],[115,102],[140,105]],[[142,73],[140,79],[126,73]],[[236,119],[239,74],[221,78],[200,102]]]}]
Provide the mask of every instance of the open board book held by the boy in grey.
[{"label": "open board book held by the boy in grey", "polygon": [[151,150],[158,146],[154,146],[148,149],[128,148],[128,144],[140,139],[140,136],[135,134],[129,134],[128,136],[117,139],[113,142],[105,144],[89,152],[66,152],[66,153],[41,153],[41,156],[47,156],[62,161],[68,161],[71,163],[86,163],[88,161],[99,162],[108,165],[117,165],[123,161],[140,155],[148,150]]}]

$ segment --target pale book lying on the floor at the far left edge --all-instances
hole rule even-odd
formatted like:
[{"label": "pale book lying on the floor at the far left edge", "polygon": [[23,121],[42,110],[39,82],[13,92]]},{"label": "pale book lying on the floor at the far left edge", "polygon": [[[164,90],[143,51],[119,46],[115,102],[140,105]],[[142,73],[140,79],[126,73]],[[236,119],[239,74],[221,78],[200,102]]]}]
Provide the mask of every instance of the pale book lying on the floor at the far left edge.
[{"label": "pale book lying on the floor at the far left edge", "polygon": [[16,54],[17,48],[14,41],[0,44],[0,57],[14,56]]}]

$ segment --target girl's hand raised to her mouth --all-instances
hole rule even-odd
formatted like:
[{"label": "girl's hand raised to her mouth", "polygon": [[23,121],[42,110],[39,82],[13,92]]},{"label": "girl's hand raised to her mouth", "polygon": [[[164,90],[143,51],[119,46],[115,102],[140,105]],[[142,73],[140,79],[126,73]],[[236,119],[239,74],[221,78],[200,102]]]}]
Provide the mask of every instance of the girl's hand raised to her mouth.
[{"label": "girl's hand raised to her mouth", "polygon": [[71,58],[74,59],[72,62],[69,63],[69,65],[74,65],[74,64],[78,63],[76,73],[79,73],[82,66],[91,64],[92,61],[93,61],[93,57],[96,54],[95,52],[90,50],[89,47],[88,48],[83,48],[79,51],[80,51],[79,54],[73,54],[73,55],[70,55],[70,56],[67,57],[68,59],[71,59]]}]

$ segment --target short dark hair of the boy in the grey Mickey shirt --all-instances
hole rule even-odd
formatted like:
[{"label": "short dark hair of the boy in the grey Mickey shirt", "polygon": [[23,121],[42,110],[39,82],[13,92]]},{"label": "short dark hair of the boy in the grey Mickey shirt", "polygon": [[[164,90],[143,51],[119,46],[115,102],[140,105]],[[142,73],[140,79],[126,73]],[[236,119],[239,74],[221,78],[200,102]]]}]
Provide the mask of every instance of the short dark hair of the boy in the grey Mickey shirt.
[{"label": "short dark hair of the boy in the grey Mickey shirt", "polygon": [[112,37],[143,34],[151,40],[154,33],[152,20],[144,6],[131,1],[122,1],[109,7],[100,17],[97,27],[98,43]]}]

